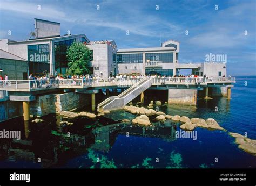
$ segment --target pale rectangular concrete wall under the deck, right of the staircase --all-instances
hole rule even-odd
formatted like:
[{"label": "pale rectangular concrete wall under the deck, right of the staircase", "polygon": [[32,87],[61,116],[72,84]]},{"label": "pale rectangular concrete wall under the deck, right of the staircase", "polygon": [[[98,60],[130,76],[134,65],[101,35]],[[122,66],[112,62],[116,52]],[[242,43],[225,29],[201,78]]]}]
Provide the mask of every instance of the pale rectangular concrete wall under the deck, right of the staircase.
[{"label": "pale rectangular concrete wall under the deck, right of the staircase", "polygon": [[196,105],[197,90],[192,89],[169,89],[168,104]]}]

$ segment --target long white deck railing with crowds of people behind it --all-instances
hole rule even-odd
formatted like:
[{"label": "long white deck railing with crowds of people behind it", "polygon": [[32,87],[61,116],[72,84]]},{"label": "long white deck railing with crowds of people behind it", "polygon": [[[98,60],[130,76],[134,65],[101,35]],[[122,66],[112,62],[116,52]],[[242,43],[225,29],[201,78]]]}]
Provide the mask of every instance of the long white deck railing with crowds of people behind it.
[{"label": "long white deck railing with crowds of people behind it", "polygon": [[[130,87],[142,78],[86,78],[63,80],[8,80],[0,81],[0,89],[50,89],[50,88],[85,88],[85,87]],[[235,82],[235,77],[161,77],[153,78],[152,84],[200,84]]]}]

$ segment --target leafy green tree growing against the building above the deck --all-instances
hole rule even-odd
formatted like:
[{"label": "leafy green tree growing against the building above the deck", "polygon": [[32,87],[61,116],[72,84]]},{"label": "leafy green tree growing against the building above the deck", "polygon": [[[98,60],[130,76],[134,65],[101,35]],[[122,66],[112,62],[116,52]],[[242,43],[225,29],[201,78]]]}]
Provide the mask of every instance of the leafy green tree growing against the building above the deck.
[{"label": "leafy green tree growing against the building above the deck", "polygon": [[73,42],[66,53],[68,59],[67,74],[83,75],[90,73],[92,52],[82,43]]}]

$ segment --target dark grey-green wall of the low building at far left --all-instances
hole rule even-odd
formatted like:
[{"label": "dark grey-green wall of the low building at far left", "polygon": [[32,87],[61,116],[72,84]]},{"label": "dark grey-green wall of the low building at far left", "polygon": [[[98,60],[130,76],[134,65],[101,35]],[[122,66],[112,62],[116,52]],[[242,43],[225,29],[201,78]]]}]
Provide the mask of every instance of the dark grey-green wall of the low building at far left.
[{"label": "dark grey-green wall of the low building at far left", "polygon": [[9,80],[23,80],[22,73],[28,73],[28,62],[1,58],[0,68],[3,69],[0,74],[7,74]]}]

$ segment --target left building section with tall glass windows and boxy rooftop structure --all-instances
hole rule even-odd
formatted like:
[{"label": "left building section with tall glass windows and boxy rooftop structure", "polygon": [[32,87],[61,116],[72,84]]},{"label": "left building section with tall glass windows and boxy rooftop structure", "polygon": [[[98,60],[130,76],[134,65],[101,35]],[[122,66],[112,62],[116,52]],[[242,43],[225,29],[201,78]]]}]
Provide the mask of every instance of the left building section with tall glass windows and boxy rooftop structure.
[{"label": "left building section with tall glass windows and boxy rooftop structure", "polygon": [[[36,26],[37,25],[37,26]],[[66,73],[67,48],[73,42],[88,42],[85,34],[60,36],[60,23],[35,19],[35,38],[14,41],[0,40],[0,49],[28,60],[29,73],[35,75]]]}]

